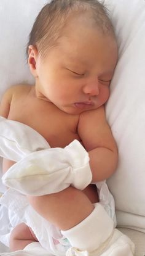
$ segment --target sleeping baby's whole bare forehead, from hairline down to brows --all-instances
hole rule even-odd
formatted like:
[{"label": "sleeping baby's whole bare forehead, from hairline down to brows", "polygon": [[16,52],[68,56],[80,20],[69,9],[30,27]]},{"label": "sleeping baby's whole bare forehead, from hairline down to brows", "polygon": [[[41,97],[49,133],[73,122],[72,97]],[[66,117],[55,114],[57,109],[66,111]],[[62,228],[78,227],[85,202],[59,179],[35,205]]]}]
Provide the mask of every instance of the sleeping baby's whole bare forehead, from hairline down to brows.
[{"label": "sleeping baby's whole bare forehead, from hairline down to brows", "polygon": [[84,66],[99,63],[113,69],[117,61],[117,43],[113,33],[105,33],[89,15],[69,16],[47,57],[56,62],[77,62]]}]

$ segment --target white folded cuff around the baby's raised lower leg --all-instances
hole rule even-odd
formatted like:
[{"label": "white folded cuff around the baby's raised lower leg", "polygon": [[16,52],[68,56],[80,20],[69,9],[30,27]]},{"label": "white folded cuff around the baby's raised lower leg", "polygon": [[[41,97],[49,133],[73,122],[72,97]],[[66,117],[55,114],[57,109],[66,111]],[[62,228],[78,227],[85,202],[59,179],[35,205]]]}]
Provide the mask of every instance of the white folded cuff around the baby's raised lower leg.
[{"label": "white folded cuff around the baby's raised lower leg", "polygon": [[[61,231],[72,247],[92,252],[104,244],[111,236],[114,223],[104,208],[98,203],[85,220],[71,229]],[[90,239],[91,237],[91,239]]]}]

